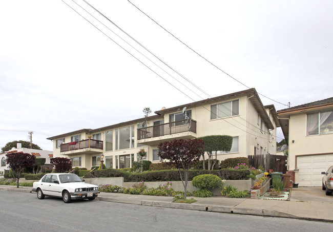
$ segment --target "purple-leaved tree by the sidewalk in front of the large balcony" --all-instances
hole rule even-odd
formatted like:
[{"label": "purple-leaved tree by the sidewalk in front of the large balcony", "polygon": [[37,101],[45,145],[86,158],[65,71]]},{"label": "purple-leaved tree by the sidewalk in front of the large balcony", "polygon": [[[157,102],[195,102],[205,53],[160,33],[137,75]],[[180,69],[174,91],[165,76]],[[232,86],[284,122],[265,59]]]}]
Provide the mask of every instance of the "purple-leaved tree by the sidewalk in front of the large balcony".
[{"label": "purple-leaved tree by the sidewalk in front of the large balcony", "polygon": [[[204,141],[202,139],[175,139],[161,142],[158,147],[158,156],[169,160],[179,170],[180,179],[184,186],[184,199],[189,180],[189,169],[193,161],[199,160],[203,152]],[[184,171],[182,176],[181,169]]]}]

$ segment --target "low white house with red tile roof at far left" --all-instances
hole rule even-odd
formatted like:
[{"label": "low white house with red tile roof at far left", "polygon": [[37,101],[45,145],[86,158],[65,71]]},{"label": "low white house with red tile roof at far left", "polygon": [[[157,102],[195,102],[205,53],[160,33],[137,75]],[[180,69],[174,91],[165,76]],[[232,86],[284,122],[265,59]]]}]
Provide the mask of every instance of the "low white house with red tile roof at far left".
[{"label": "low white house with red tile roof at far left", "polygon": [[29,149],[22,147],[21,143],[17,143],[17,148],[13,147],[11,150],[5,153],[0,154],[0,176],[3,176],[5,171],[9,171],[9,167],[6,163],[6,154],[10,153],[29,153],[31,155],[36,156],[36,158],[45,158],[45,163],[50,164],[50,159],[53,157],[52,151],[45,151],[45,150],[37,150],[37,149]]}]

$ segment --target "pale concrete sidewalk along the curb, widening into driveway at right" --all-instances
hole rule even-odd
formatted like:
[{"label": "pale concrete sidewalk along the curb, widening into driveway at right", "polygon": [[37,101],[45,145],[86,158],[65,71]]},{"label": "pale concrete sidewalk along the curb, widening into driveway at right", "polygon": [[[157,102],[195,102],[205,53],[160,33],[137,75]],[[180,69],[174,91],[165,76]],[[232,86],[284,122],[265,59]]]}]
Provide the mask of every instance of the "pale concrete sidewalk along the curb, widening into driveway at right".
[{"label": "pale concrete sidewalk along the curb, widening into driveway at right", "polygon": [[[0,185],[0,190],[31,193],[32,187]],[[32,192],[33,193],[33,192]],[[33,193],[35,194],[35,193]],[[190,197],[192,198],[192,197]],[[333,196],[325,196],[321,187],[292,188],[290,201],[238,199],[226,197],[196,198],[192,204],[173,203],[172,197],[129,195],[101,192],[96,200],[218,213],[247,214],[333,222]]]}]

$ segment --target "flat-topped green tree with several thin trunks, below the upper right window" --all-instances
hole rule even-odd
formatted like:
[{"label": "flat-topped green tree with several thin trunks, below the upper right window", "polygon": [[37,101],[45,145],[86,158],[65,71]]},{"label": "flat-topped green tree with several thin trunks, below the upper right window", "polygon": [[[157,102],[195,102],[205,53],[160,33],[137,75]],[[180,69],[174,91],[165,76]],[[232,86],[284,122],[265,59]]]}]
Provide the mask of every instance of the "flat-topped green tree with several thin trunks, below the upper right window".
[{"label": "flat-topped green tree with several thin trunks, below the upper right window", "polygon": [[[233,145],[233,137],[229,135],[208,135],[199,137],[204,141],[203,151],[208,154],[208,170],[213,170],[214,165],[217,160],[217,151],[230,151]],[[214,163],[211,165],[213,161],[213,152],[215,152],[215,160]],[[204,166],[204,154],[202,155],[203,159],[203,170],[205,169]]]}]

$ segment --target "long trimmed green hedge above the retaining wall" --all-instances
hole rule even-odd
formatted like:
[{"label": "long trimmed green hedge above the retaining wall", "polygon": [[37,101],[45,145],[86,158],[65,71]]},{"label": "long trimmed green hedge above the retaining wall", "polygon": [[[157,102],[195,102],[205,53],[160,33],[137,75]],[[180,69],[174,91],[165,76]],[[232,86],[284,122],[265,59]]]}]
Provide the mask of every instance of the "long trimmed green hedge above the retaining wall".
[{"label": "long trimmed green hedge above the retaining wall", "polygon": [[[202,174],[213,174],[217,175],[224,180],[245,180],[249,175],[249,170],[190,170],[189,180],[193,177]],[[124,182],[139,182],[139,181],[180,181],[180,175],[178,170],[164,170],[164,171],[151,171],[144,173],[129,173],[123,172],[116,169],[105,169],[93,171],[85,178],[101,178],[101,177],[124,177]]]}]

